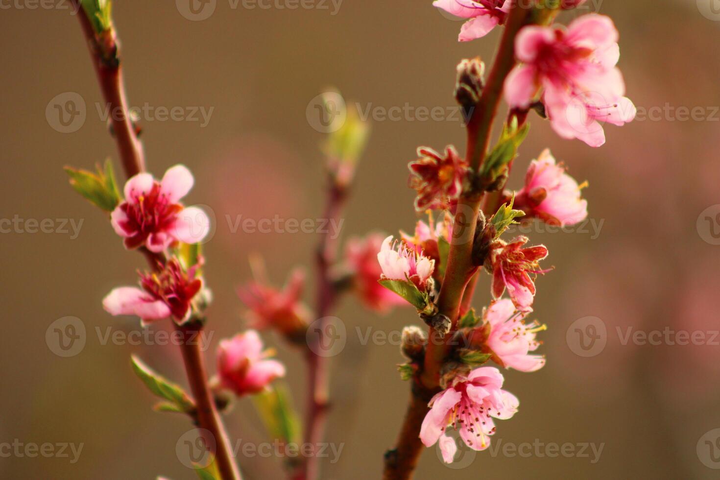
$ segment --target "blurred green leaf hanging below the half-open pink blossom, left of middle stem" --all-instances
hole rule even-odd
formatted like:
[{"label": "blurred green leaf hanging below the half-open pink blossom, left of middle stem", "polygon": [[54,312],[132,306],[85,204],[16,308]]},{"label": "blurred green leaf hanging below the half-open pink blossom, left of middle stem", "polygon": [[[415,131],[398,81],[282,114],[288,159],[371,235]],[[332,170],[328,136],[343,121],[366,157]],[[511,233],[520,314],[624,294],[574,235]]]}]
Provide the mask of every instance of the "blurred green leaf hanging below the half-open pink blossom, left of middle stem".
[{"label": "blurred green leaf hanging below the half-open pink blossom, left of middle stem", "polygon": [[273,439],[294,442],[300,438],[300,420],[290,398],[287,386],[279,381],[268,391],[253,396],[258,414]]}]

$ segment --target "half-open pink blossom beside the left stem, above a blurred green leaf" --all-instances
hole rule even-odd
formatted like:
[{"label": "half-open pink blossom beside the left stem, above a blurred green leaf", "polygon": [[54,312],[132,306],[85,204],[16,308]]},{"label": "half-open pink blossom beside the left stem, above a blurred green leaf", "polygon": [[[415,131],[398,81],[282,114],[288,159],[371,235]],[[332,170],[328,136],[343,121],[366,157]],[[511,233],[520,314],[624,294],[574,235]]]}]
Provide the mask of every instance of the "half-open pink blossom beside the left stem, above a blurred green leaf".
[{"label": "half-open pink blossom beside the left stem, above a blurred green leaf", "polygon": [[256,394],[274,379],[285,376],[285,366],[267,360],[271,350],[263,351],[263,341],[255,330],[238,333],[220,340],[217,347],[217,373],[220,386],[232,390],[238,397]]}]

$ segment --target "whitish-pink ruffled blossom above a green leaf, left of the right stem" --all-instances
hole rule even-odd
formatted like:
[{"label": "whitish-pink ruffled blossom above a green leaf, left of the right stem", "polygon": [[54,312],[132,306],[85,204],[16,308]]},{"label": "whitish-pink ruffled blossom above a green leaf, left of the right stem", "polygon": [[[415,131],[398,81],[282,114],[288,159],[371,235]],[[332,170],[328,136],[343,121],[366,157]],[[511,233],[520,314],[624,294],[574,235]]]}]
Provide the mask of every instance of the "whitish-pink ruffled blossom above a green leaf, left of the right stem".
[{"label": "whitish-pink ruffled blossom above a green leaf, left of the right stem", "polygon": [[430,289],[428,280],[433,275],[435,261],[410,250],[405,243],[393,244],[392,235],[382,242],[377,261],[382,270],[382,278],[411,281],[420,291]]}]

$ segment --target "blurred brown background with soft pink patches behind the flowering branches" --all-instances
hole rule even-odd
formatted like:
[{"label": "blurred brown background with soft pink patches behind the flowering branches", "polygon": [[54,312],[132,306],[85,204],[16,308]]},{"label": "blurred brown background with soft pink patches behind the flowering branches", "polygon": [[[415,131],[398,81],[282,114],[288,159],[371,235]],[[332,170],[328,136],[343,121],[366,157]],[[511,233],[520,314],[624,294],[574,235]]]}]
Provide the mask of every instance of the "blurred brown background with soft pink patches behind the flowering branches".
[{"label": "blurred brown background with soft pink patches behind the flowering branches", "polygon": [[[475,55],[490,60],[500,34],[456,42],[462,23],[430,1],[290,4],[211,0],[212,12],[199,13],[183,0],[114,4],[130,104],[151,112],[140,119],[148,168],[161,176],[175,163],[189,166],[196,186],[186,200],[215,218],[205,245],[215,294],[211,371],[217,341],[243,328],[235,289],[250,278],[248,255],[264,255],[276,284],[295,265],[312,279],[317,235],[243,232],[235,222],[322,216],[324,135],[307,114],[315,97],[332,85],[371,112],[408,106],[399,119],[372,122],[341,235],[411,230],[407,162],[418,145],[464,150],[452,98],[455,65]],[[68,1],[13,0],[0,9],[0,217],[13,220],[0,235],[0,445],[9,445],[0,448],[0,477],[192,479],[176,454],[189,422],[152,412],[155,399],[129,360],[136,353],[184,384],[177,348],[130,345],[122,338],[137,335],[137,320],[110,317],[101,305],[114,286],[135,283],[143,258],[123,250],[103,214],[63,173],[66,164],[91,168],[111,156],[124,181],[69,8]],[[534,374],[506,372],[505,386],[521,408],[498,422],[497,450],[463,450],[458,463],[444,466],[429,448],[418,479],[719,475],[720,4],[596,0],[582,12],[588,11],[611,16],[621,32],[620,66],[638,119],[606,127],[608,142],[599,149],[560,140],[549,124],[531,119],[511,186],[521,184],[524,168],[545,147],[575,178],[590,182],[588,222],[529,233],[548,246],[546,262],[555,267],[539,279],[534,306],[549,327],[541,333],[547,365]],[[53,106],[78,98],[84,115],[58,123]],[[180,107],[179,115],[163,121],[161,107]],[[420,107],[448,114],[428,119]],[[46,231],[33,230],[33,219],[50,219]],[[490,297],[489,280],[482,276],[476,307]],[[306,293],[311,302],[312,288]],[[379,317],[351,297],[337,316],[348,335],[332,358],[327,438],[343,449],[323,462],[323,479],[379,478],[408,384],[395,369],[402,361],[397,343],[365,335],[398,332],[418,319],[409,309]],[[76,331],[84,336],[79,348],[58,354],[53,322],[64,317],[79,319]],[[169,322],[152,327],[169,328]],[[695,334],[695,344],[681,345],[688,340],[680,332]],[[289,366],[302,409],[302,357],[282,338],[264,338]],[[238,402],[227,423],[235,439],[266,441],[249,400]],[[48,456],[30,457],[22,448],[7,454],[13,444],[43,443],[82,447],[77,455],[70,446],[64,456],[56,446]],[[557,454],[563,445],[570,446]],[[240,463],[247,479],[282,477],[277,459]]]}]

